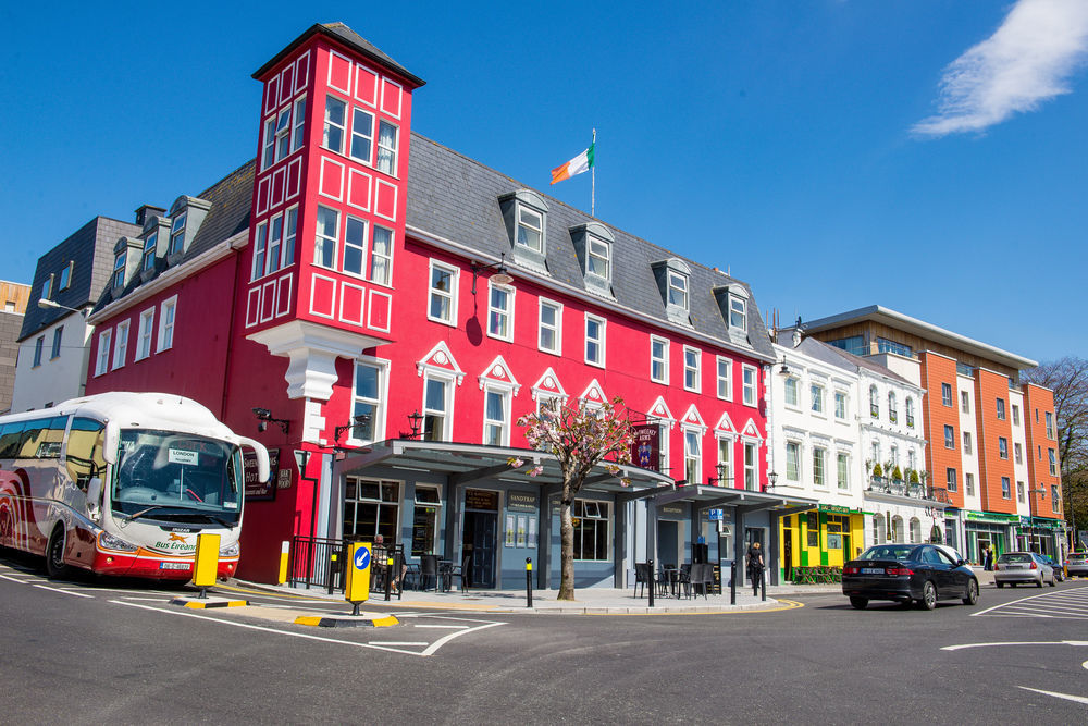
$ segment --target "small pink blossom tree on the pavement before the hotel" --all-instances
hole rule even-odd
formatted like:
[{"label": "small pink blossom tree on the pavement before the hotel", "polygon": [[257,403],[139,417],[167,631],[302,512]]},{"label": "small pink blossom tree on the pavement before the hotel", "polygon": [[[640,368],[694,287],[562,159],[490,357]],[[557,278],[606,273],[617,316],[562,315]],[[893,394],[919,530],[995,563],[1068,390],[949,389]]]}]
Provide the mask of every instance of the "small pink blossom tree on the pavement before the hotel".
[{"label": "small pink blossom tree on the pavement before the hotel", "polygon": [[[533,448],[553,454],[562,473],[559,500],[560,579],[559,600],[574,599],[574,522],[570,506],[593,467],[604,463],[608,471],[619,475],[620,464],[631,463],[633,433],[621,398],[598,405],[565,405],[558,399],[541,406],[537,414],[518,419],[524,427],[526,440]],[[511,459],[514,467],[523,466],[521,459]],[[536,466],[529,476],[536,476]],[[625,487],[630,480],[622,478]]]}]

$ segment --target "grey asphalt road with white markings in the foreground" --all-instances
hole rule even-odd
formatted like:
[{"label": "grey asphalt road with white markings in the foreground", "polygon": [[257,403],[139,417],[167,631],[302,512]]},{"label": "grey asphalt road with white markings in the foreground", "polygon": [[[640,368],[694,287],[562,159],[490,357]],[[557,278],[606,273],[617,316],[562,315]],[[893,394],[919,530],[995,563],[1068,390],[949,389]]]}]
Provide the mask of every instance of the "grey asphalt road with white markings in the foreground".
[{"label": "grey asphalt road with white markings in the foreground", "polygon": [[838,594],[717,615],[189,611],[141,582],[50,582],[0,552],[5,723],[1085,723],[1088,581],[936,612]]}]

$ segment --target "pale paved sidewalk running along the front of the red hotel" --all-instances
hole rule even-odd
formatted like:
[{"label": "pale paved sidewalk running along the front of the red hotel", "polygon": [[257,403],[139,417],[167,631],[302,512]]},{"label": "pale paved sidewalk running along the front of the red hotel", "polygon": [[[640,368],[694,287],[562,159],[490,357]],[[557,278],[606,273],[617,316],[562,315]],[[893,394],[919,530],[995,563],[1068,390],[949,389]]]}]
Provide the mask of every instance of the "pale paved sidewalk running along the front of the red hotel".
[{"label": "pale paved sidewalk running along the front of the red hotel", "polygon": [[[275,592],[277,594],[306,595],[318,601],[329,601],[331,610],[347,610],[350,605],[344,601],[342,593],[330,595],[325,590],[310,588],[292,588],[287,586],[270,586],[256,582],[233,580],[240,588],[255,591]],[[581,588],[574,591],[574,600],[556,600],[557,590],[533,590],[533,606],[526,606],[524,590],[470,590],[468,592],[417,592],[406,590],[400,600],[393,595],[385,601],[383,593],[372,592],[367,602],[368,608],[393,607],[404,610],[457,610],[474,613],[535,613],[548,615],[631,615],[660,613],[730,613],[735,611],[774,611],[796,607],[792,602],[780,602],[787,595],[807,593],[838,593],[838,585],[783,585],[767,586],[767,600],[752,595],[747,588],[737,591],[737,604],[729,603],[729,591],[724,595],[700,595],[692,599],[655,598],[654,607],[650,607],[648,598],[643,594],[635,598],[633,588],[617,590],[615,588]]]}]

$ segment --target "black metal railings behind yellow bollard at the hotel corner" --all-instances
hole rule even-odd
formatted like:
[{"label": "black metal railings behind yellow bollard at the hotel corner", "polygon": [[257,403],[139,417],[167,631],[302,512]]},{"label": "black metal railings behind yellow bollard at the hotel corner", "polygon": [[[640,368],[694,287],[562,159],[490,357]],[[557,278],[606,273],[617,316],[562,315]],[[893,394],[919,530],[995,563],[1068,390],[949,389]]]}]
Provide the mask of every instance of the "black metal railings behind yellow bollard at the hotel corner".
[{"label": "black metal railings behind yellow bollard at the hotel corner", "polygon": [[[290,587],[344,592],[347,558],[351,541],[323,537],[295,537],[290,543],[287,581]],[[404,589],[405,552],[403,544],[374,544],[371,550],[370,591],[400,599]]]}]

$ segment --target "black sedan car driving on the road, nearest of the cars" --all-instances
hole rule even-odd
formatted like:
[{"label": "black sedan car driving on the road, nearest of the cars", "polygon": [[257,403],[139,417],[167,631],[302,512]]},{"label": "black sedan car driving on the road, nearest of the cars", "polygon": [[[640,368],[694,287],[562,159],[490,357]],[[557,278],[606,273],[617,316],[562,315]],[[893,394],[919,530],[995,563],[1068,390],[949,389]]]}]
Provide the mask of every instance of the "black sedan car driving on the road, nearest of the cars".
[{"label": "black sedan car driving on the road, nearest of the cars", "polygon": [[949,547],[934,544],[878,544],[842,568],[842,594],[864,608],[870,600],[892,600],[926,610],[938,600],[978,602],[978,578]]}]

